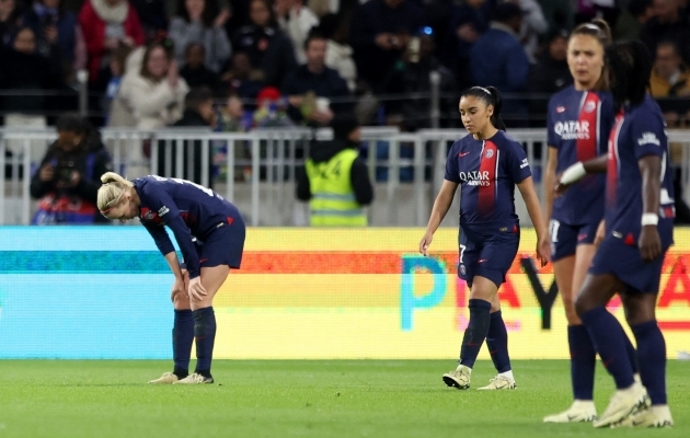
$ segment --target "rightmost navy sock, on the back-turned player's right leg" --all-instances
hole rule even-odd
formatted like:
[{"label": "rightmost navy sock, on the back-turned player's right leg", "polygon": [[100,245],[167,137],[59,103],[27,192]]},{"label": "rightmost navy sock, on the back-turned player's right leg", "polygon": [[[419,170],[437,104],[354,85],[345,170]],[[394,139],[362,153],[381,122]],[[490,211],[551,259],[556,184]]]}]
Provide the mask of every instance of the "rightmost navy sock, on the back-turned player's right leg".
[{"label": "rightmost navy sock, on the back-turned player's right leg", "polygon": [[652,404],[666,404],[666,342],[656,320],[631,327],[637,339],[640,378]]}]

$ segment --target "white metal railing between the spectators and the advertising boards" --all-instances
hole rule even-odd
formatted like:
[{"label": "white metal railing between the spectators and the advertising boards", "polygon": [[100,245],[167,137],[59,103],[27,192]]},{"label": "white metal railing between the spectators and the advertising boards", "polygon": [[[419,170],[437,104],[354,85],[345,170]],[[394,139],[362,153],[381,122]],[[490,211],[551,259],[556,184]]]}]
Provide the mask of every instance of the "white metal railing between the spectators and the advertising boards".
[{"label": "white metal railing between the spectators and the advertising boards", "polygon": [[[227,145],[225,164],[228,169],[226,181],[216,181],[215,188],[228,199],[244,203],[252,226],[288,226],[304,223],[296,219],[299,209],[295,199],[295,170],[303,163],[309,153],[310,140],[327,138],[330,130],[306,128],[257,129],[250,132],[211,132],[194,128],[168,128],[153,131],[133,129],[103,129],[103,141],[112,154],[116,171],[127,177],[146,174],[165,174],[181,177],[184,166],[192,164],[191,157],[184,155],[183,148],[176,148],[175,155],[165,153],[163,169],[159,169],[159,154],[162,149],[173,143],[196,142],[202,148],[202,183],[207,185],[209,175],[209,151],[216,142]],[[377,199],[369,209],[370,223],[376,226],[424,226],[433,199],[440,187],[445,174],[446,154],[450,142],[467,135],[458,129],[426,129],[414,134],[400,132],[390,127],[363,128],[363,142],[368,148],[368,168],[372,181],[376,181],[377,168],[388,169],[388,180],[377,184]],[[545,158],[544,129],[511,129],[509,135],[526,146],[527,155],[536,174],[536,185],[543,198],[543,184],[540,177],[542,163],[536,157],[536,143],[542,145]],[[0,129],[0,224],[27,224],[35,201],[30,197],[31,175],[36,171],[47,146],[56,139],[54,130]],[[682,148],[682,186],[690,187],[690,131],[670,130],[671,142],[683,143]],[[388,159],[377,158],[377,142],[388,148]],[[150,158],[142,153],[142,146],[150,145]],[[413,157],[401,159],[401,146],[411,147]],[[11,149],[13,157],[5,158],[5,150]],[[162,148],[162,149],[161,149]],[[249,157],[235,159],[234,150],[246,148]],[[186,148],[191,151],[192,148]],[[175,174],[171,174],[173,162]],[[7,165],[7,168],[5,168]],[[402,183],[400,170],[413,170],[411,184]],[[8,177],[5,170],[11,171]],[[235,171],[248,169],[250,181],[235,181]],[[20,173],[23,177],[20,178]],[[430,174],[430,178],[427,177]],[[225,187],[223,187],[225,186]],[[222,189],[225,188],[225,189]],[[688,198],[688,189],[685,189]],[[401,195],[404,194],[404,196]],[[384,195],[381,199],[380,195]],[[237,200],[235,200],[237,199]],[[409,209],[401,215],[401,203],[407,203]],[[8,218],[8,215],[10,216]],[[263,215],[263,217],[262,217]],[[299,215],[298,215],[299,216]],[[404,217],[402,217],[404,216]],[[260,217],[262,220],[260,220]]]}]

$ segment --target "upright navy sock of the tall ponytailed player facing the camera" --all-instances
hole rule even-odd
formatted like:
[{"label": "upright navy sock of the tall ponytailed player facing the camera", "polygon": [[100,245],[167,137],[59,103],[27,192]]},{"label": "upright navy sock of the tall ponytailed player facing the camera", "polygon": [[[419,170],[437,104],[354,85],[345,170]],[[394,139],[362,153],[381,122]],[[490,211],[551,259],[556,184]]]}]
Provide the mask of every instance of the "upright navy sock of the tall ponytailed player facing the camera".
[{"label": "upright navy sock of the tall ponytailed player facing the camera", "polygon": [[571,381],[575,400],[593,400],[597,351],[584,325],[568,325],[571,348]]}]

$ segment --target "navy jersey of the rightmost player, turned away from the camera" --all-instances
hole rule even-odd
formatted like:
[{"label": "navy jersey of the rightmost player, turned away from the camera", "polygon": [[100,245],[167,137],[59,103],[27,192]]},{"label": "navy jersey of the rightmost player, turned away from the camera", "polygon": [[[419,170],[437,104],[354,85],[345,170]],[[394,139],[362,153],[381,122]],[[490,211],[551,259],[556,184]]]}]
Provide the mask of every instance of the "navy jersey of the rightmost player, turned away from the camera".
[{"label": "navy jersey of the rightmost player, turned away from the camera", "polygon": [[662,226],[662,221],[670,222],[675,217],[668,138],[662,110],[649,95],[616,117],[609,139],[606,228],[614,237],[636,240],[642,231],[642,173],[637,161],[646,155],[662,158],[658,230],[662,244],[668,247],[672,242],[672,227]]}]

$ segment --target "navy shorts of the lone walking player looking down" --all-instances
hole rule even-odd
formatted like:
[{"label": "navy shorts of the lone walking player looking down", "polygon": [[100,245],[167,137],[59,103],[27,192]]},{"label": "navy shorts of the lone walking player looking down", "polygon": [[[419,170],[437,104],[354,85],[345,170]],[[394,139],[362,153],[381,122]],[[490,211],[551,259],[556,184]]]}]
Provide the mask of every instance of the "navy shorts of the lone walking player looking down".
[{"label": "navy shorts of the lone walking player looking down", "polygon": [[478,275],[501,287],[506,281],[506,274],[515,261],[519,244],[520,230],[517,227],[510,231],[491,233],[462,229],[458,277],[469,287],[472,287]]}]

